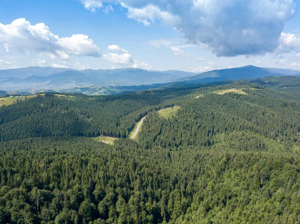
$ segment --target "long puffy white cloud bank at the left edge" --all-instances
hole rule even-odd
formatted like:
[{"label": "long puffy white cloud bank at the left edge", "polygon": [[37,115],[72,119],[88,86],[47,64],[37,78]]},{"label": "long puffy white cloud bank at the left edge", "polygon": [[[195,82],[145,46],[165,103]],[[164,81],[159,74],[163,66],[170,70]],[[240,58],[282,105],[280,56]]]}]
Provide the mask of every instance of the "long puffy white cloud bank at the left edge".
[{"label": "long puffy white cloud bank at the left edge", "polygon": [[87,35],[73,34],[71,37],[59,38],[44,23],[31,25],[25,18],[16,19],[7,25],[0,23],[0,42],[6,51],[10,48],[21,53],[33,51],[51,58],[102,56],[100,49]]}]

